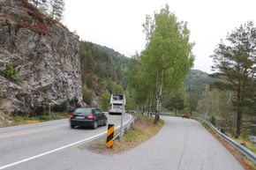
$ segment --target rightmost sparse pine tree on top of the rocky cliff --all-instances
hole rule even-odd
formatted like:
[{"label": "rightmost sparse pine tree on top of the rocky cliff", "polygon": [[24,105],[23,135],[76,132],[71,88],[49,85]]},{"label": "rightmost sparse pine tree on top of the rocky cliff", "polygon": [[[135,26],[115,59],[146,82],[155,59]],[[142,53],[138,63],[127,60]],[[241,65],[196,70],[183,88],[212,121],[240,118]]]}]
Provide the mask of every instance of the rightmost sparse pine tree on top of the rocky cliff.
[{"label": "rightmost sparse pine tree on top of the rocky cliff", "polygon": [[49,13],[52,18],[61,20],[64,13],[64,0],[49,0]]}]

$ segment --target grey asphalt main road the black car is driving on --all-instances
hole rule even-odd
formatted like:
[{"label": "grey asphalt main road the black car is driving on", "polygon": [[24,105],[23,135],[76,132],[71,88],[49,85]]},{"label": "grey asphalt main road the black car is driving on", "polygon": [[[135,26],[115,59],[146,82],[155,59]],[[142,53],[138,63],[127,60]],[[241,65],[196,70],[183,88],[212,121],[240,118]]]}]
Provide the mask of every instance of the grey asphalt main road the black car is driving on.
[{"label": "grey asphalt main road the black car is driving on", "polygon": [[[109,123],[114,123],[116,126],[120,124],[120,115],[106,115]],[[124,115],[124,122],[130,117]],[[17,164],[19,161],[24,161],[22,164],[25,165],[29,159],[41,161],[40,157],[43,155],[47,157],[49,152],[59,152],[81,141],[89,142],[90,137],[104,133],[106,130],[107,126],[98,129],[71,129],[68,119],[0,128],[0,169],[5,169],[4,166],[24,169],[21,164]],[[28,169],[36,170],[40,167],[26,168]],[[46,169],[50,170],[50,168]]]}]

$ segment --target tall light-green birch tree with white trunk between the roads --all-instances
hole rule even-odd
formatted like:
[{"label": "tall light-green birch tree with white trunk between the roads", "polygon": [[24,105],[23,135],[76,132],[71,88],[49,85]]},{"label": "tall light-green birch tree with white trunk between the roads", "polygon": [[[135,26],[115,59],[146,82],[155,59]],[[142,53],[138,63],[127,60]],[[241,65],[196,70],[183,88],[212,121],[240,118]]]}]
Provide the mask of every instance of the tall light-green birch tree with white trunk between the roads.
[{"label": "tall light-green birch tree with white trunk between the roads", "polygon": [[177,21],[167,4],[159,13],[154,14],[154,18],[147,15],[143,26],[147,45],[140,56],[140,72],[152,87],[147,90],[154,92],[156,124],[162,110],[163,91],[175,91],[179,85],[183,85],[192,67],[193,44],[189,41],[187,23]]}]

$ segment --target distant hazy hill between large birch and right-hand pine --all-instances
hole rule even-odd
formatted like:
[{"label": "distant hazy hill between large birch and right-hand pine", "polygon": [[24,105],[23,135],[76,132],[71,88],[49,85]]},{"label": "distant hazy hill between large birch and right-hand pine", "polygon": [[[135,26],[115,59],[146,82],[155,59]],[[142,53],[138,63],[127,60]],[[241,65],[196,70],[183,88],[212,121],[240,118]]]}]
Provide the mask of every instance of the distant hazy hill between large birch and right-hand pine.
[{"label": "distant hazy hill between large birch and right-hand pine", "polygon": [[215,82],[215,78],[210,78],[206,72],[190,70],[185,79],[185,91],[193,93],[197,99],[200,99],[207,86],[213,82]]}]

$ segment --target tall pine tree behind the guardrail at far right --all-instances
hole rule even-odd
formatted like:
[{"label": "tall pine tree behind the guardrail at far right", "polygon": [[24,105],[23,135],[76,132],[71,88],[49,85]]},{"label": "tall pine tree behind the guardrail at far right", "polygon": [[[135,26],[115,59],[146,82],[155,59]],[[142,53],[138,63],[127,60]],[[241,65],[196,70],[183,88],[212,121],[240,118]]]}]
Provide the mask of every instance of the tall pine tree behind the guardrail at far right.
[{"label": "tall pine tree behind the guardrail at far right", "polygon": [[222,82],[215,83],[215,86],[235,93],[233,106],[236,107],[237,113],[236,136],[238,137],[241,132],[242,115],[246,114],[248,107],[253,106],[252,94],[255,92],[256,78],[256,27],[252,22],[247,22],[228,34],[225,42],[226,44],[222,41],[212,55],[215,63],[213,68],[218,70],[214,76],[222,79]]}]

